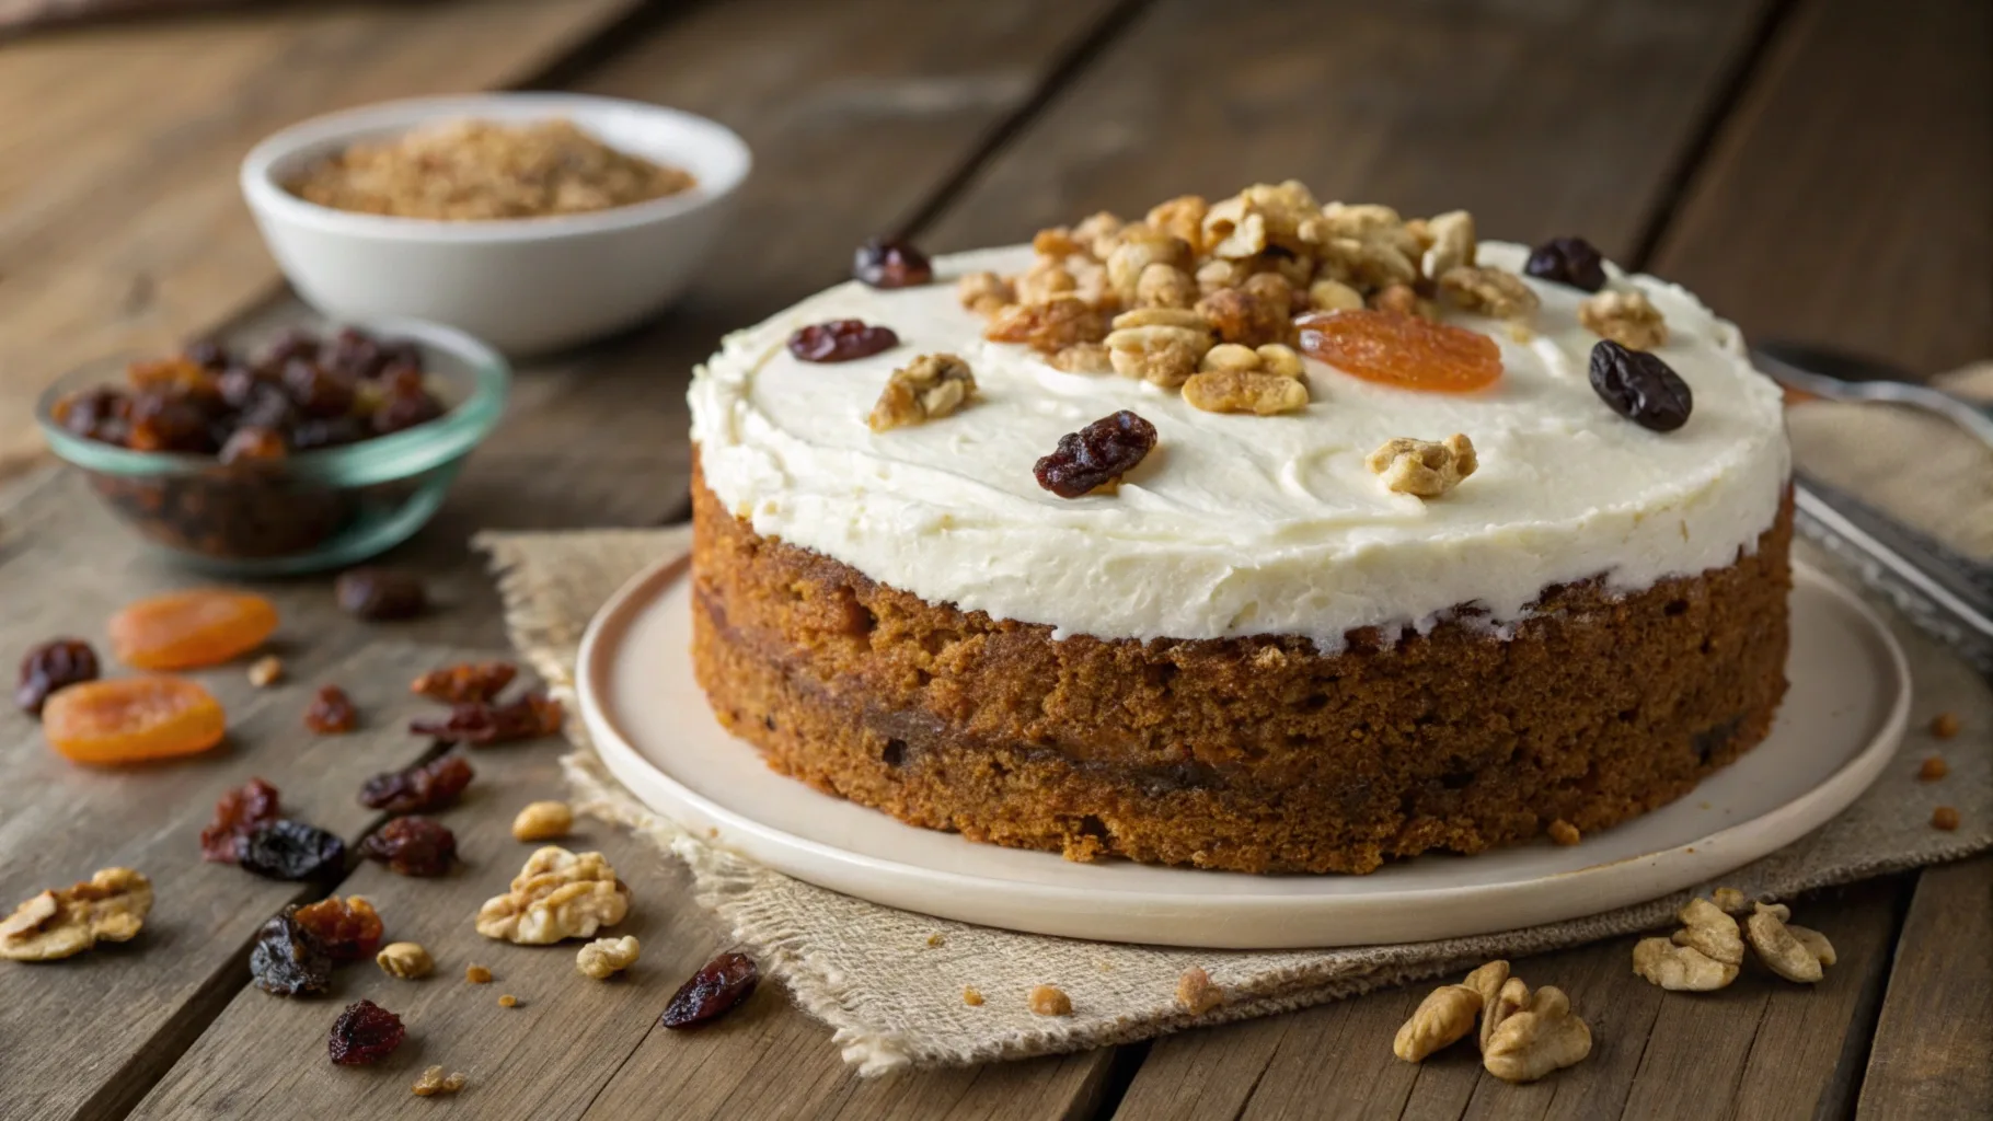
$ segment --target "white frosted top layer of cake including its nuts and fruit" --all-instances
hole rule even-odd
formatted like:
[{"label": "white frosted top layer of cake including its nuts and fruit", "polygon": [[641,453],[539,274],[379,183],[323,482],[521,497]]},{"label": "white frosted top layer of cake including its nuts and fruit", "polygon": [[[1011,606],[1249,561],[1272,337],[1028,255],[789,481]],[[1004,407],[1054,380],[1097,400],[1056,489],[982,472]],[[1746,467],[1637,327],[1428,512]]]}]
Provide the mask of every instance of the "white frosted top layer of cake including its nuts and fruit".
[{"label": "white frosted top layer of cake including its nuts and fruit", "polygon": [[[1467,215],[1254,191],[845,283],[727,336],[692,386],[706,484],[763,536],[1060,637],[1323,649],[1722,567],[1774,522],[1780,392],[1690,293],[1574,241],[1477,243]],[[861,325],[791,346],[837,321]],[[837,348],[863,356],[799,356]],[[1040,480],[1124,412],[1154,446],[1118,482]],[[1140,444],[1108,428],[1110,458]]]}]

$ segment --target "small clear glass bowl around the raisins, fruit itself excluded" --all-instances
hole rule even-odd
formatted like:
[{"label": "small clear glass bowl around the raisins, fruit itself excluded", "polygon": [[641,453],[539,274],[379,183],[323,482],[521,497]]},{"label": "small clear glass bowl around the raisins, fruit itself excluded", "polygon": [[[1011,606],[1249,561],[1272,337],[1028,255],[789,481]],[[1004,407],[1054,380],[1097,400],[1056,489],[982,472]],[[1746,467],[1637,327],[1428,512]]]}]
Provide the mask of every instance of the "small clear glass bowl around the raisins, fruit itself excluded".
[{"label": "small clear glass bowl around the raisins, fruit itself excluded", "polygon": [[[313,335],[331,344],[341,331],[315,327]],[[177,560],[229,575],[351,565],[405,542],[442,506],[464,456],[504,412],[512,380],[496,350],[448,327],[381,321],[357,331],[409,348],[434,408],[401,418],[413,420],[407,426],[383,422],[385,432],[355,428],[347,416],[323,416],[299,434],[293,420],[283,432],[295,446],[285,454],[265,458],[249,450],[231,454],[231,462],[219,452],[229,436],[221,428],[193,438],[203,446],[199,452],[136,450],[116,442],[116,424],[106,434],[76,416],[80,394],[98,386],[132,392],[134,360],[171,356],[161,352],[122,354],[72,370],[42,394],[36,422],[118,520]],[[241,352],[269,352],[273,344],[281,340],[253,342]]]}]

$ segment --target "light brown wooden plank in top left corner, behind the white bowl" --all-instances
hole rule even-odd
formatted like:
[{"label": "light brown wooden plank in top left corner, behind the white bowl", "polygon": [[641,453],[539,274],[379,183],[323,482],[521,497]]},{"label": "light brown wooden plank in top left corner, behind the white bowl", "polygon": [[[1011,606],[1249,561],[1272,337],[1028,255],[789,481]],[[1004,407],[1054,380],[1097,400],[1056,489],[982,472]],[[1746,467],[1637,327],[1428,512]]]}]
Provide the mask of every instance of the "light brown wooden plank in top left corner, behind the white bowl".
[{"label": "light brown wooden plank in top left corner, behind the white bowl", "polygon": [[313,113],[532,78],[640,0],[257,4],[0,44],[0,476],[56,374],[213,327],[277,267],[235,165]]}]

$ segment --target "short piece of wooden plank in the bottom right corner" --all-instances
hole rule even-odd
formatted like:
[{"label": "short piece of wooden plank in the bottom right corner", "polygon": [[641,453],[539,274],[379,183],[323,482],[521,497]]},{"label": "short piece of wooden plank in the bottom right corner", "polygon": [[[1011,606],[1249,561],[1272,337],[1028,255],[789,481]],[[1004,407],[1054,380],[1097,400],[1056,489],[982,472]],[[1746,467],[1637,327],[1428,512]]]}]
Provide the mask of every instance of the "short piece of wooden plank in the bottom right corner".
[{"label": "short piece of wooden plank in the bottom right corner", "polygon": [[1919,876],[1857,1117],[1993,1117],[1993,856]]}]

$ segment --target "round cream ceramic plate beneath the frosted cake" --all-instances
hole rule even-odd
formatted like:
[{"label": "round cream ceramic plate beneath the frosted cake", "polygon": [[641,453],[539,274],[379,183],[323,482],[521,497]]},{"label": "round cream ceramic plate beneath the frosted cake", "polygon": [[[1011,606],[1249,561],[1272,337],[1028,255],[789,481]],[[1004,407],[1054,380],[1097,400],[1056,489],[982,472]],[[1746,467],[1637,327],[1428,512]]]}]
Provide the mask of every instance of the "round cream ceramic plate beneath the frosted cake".
[{"label": "round cream ceramic plate beneath the frosted cake", "polygon": [[632,579],[582,639],[582,717],[654,810],[747,858],[887,906],[1104,942],[1238,950],[1513,930],[1708,882],[1820,826],[1875,779],[1909,713],[1903,651],[1853,595],[1796,571],[1792,691],[1772,737],[1686,798],[1582,844],[1421,856],[1369,876],[1248,876],[975,844],[769,771],[692,677],[686,563]]}]

